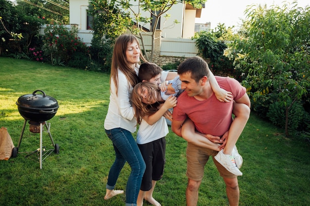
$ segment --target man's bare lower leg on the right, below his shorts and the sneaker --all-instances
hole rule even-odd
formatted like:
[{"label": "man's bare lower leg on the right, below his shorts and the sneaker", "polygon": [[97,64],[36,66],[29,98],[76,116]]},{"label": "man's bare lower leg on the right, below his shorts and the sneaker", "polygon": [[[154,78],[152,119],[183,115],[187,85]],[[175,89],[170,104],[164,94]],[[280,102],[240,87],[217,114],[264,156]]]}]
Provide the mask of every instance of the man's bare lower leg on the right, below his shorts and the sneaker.
[{"label": "man's bare lower leg on the right, below his shorts and the sneaker", "polygon": [[238,186],[238,179],[235,178],[224,178],[226,184],[226,194],[230,206],[239,205],[240,191]]}]

